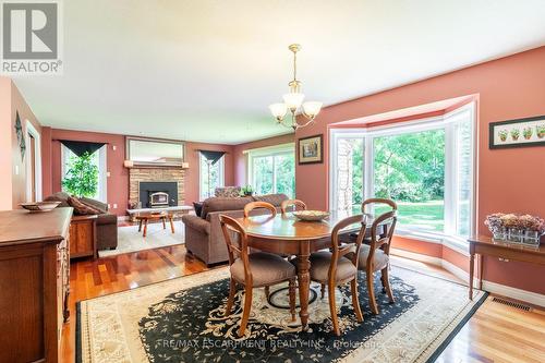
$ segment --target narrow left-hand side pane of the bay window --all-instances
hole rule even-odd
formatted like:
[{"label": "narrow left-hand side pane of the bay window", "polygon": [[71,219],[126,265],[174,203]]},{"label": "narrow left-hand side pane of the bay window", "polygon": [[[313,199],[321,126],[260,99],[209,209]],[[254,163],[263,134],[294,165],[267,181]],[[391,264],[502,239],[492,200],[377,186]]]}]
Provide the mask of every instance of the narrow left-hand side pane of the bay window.
[{"label": "narrow left-hand side pane of the bay window", "polygon": [[361,210],[363,202],[363,140],[341,138],[337,144],[337,208]]}]

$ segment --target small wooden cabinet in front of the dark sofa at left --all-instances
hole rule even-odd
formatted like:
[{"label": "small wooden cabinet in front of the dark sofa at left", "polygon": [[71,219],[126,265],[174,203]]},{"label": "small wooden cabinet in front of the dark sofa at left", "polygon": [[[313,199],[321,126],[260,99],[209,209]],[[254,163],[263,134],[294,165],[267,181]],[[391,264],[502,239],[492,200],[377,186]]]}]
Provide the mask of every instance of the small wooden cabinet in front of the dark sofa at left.
[{"label": "small wooden cabinet in front of the dark sofa at left", "polygon": [[70,258],[97,257],[97,216],[74,216],[70,223]]}]

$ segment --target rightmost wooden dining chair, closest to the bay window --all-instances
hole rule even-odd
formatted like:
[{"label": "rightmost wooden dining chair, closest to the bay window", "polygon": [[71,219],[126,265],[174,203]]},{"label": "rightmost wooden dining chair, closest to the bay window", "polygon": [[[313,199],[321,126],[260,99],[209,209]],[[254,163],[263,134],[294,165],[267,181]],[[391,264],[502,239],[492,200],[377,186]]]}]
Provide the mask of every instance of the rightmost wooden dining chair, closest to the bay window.
[{"label": "rightmost wooden dining chair, closest to the bay window", "polygon": [[[393,203],[395,205],[395,203]],[[373,221],[370,244],[363,244],[360,250],[359,269],[365,271],[371,311],[378,314],[375,299],[374,274],[380,271],[383,292],[388,293],[390,303],[395,302],[390,287],[388,269],[390,265],[390,245],[396,229],[397,210],[384,213]]]}]

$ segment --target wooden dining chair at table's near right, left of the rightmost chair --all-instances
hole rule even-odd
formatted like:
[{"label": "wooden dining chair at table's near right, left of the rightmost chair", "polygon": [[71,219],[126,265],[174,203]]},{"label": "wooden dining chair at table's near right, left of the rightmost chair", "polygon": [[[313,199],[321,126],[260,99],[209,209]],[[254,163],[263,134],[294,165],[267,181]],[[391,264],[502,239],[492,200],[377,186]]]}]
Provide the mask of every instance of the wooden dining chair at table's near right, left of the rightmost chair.
[{"label": "wooden dining chair at table's near right, left of the rightmost chair", "polygon": [[[330,251],[319,251],[311,254],[311,280],[327,286],[329,299],[329,311],[334,332],[340,336],[339,322],[337,318],[337,306],[335,301],[335,290],[338,286],[350,282],[350,293],[352,294],[352,306],[358,322],[363,322],[363,314],[358,298],[358,264],[356,256],[360,253],[363,237],[365,235],[367,217],[364,215],[352,216],[342,219],[335,225],[331,231]],[[360,233],[355,242],[342,243],[339,239],[340,231],[348,226],[360,223]],[[347,255],[351,253],[352,258]],[[295,259],[296,263],[296,259]]]}]

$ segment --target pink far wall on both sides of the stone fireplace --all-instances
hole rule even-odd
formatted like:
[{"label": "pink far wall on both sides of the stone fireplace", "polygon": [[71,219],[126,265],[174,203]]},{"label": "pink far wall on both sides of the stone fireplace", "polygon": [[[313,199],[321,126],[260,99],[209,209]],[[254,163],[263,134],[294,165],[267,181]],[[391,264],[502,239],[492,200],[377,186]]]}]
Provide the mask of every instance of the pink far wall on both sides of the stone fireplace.
[{"label": "pink far wall on both sides of the stone fireplace", "polygon": [[[45,197],[61,191],[61,143],[58,140],[107,143],[107,168],[110,172],[107,182],[108,204],[110,204],[112,213],[118,216],[125,215],[129,204],[129,169],[123,166],[125,160],[124,135],[43,128],[41,138]],[[233,146],[186,143],[185,157],[190,168],[185,170],[185,201],[183,201],[185,204],[198,201],[198,149],[227,152],[225,155],[226,184],[232,184],[234,180]]]}]

